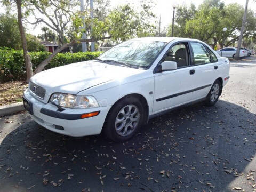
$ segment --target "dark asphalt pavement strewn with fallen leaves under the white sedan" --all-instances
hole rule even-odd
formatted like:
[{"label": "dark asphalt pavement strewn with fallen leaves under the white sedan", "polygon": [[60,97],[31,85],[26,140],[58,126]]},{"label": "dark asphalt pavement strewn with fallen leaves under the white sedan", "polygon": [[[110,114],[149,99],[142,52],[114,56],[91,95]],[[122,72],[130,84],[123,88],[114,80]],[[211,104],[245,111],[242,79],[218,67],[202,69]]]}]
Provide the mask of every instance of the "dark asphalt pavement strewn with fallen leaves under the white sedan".
[{"label": "dark asphalt pavement strewn with fallen leaves under the white sedan", "polygon": [[[133,139],[53,133],[0,119],[0,191],[256,191],[256,57],[232,62],[214,107],[151,119]],[[254,186],[255,185],[255,186]]]}]

